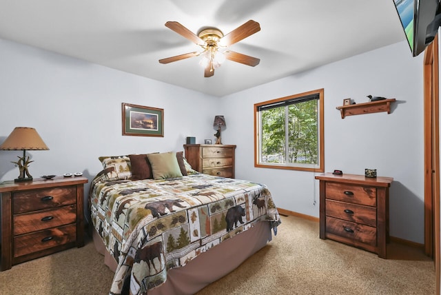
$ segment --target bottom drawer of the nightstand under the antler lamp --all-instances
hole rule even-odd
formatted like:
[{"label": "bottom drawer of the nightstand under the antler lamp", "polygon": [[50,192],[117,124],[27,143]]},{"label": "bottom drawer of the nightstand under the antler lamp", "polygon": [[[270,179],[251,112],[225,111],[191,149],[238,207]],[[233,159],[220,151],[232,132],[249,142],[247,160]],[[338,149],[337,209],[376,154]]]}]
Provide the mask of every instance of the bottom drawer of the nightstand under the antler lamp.
[{"label": "bottom drawer of the nightstand under the antler lamp", "polygon": [[76,224],[14,237],[14,257],[76,241]]}]

